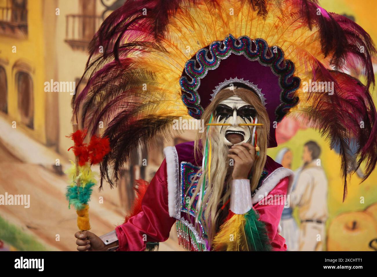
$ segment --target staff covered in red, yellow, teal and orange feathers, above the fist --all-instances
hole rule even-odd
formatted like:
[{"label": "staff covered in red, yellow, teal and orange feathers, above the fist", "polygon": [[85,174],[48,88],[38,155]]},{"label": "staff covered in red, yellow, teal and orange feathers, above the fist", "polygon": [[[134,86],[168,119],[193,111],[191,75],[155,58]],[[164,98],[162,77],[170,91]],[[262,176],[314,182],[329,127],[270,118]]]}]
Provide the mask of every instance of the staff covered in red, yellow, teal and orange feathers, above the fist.
[{"label": "staff covered in red, yellow, teal and orange feathers, above the fist", "polygon": [[96,173],[90,166],[98,164],[103,157],[110,152],[108,138],[98,138],[92,136],[89,144],[84,143],[86,132],[78,130],[78,124],[73,125],[74,133],[70,138],[74,141],[73,149],[75,154],[75,163],[71,161],[70,167],[66,173],[70,179],[70,185],[67,187],[66,197],[68,208],[74,206],[77,213],[77,226],[81,231],[90,230],[89,223],[89,200],[92,194],[92,187],[96,185]]}]

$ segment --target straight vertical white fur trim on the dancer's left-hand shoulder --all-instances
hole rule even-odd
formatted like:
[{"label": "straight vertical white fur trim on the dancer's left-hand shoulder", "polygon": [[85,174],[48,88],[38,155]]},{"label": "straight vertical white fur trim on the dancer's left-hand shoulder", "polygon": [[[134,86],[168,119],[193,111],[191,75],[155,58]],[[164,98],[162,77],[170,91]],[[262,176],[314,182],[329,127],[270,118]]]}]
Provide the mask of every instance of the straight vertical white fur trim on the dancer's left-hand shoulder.
[{"label": "straight vertical white fur trim on the dancer's left-hand shoulder", "polygon": [[179,219],[181,217],[179,187],[179,162],[178,153],[174,146],[164,148],[167,173],[167,191],[169,216]]}]

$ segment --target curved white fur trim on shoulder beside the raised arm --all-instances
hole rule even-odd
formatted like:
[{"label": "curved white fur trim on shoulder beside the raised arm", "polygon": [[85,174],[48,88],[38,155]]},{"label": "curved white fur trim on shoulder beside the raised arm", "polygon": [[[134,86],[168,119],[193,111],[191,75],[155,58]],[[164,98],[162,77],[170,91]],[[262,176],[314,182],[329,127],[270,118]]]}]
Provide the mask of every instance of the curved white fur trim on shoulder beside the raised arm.
[{"label": "curved white fur trim on shoulder beside the raised arm", "polygon": [[292,190],[294,173],[292,170],[288,168],[279,167],[279,168],[276,168],[274,171],[272,171],[271,174],[269,174],[266,177],[266,179],[263,180],[261,187],[256,191],[254,196],[251,198],[253,205],[258,203],[260,195],[265,195],[266,193],[267,194],[270,193],[270,191],[273,190],[274,187],[276,187],[276,185],[279,184],[279,182],[285,177],[289,178],[287,194],[290,193]]}]

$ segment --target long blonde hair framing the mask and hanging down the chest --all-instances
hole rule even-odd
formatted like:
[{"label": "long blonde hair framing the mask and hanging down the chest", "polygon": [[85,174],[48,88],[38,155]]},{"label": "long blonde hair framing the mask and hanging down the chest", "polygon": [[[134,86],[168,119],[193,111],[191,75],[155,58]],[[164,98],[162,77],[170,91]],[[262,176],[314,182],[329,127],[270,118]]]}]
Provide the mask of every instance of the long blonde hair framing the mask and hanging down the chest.
[{"label": "long blonde hair framing the mask and hanging down the chest", "polygon": [[[210,120],[212,113],[215,113],[216,106],[218,104],[229,98],[230,96],[237,95],[245,102],[251,104],[256,109],[256,114],[258,117],[258,123],[262,123],[264,125],[257,127],[257,135],[258,135],[258,146],[261,148],[260,156],[254,162],[252,167],[252,177],[250,180],[251,191],[254,191],[258,185],[259,178],[261,177],[264,164],[267,158],[267,142],[268,136],[270,133],[270,120],[268,118],[267,112],[265,107],[262,105],[261,100],[253,93],[251,90],[239,87],[234,87],[233,90],[229,89],[222,89],[218,92],[215,99],[208,105],[208,107],[204,110],[202,118],[204,123],[207,124]],[[215,114],[213,114],[215,116]],[[211,128],[211,127],[210,127]],[[196,210],[199,211],[202,208],[202,218],[201,223],[204,228],[205,233],[208,236],[208,242],[211,243],[213,237],[218,228],[218,218],[221,213],[220,205],[223,205],[227,202],[230,197],[230,184],[232,181],[232,167],[230,166],[229,158],[227,154],[229,153],[228,146],[224,144],[222,136],[218,132],[217,128],[211,128],[208,133],[211,139],[211,182],[207,182],[207,187],[205,188],[204,198],[202,199],[201,207],[196,207]],[[199,153],[202,153],[204,156],[205,153],[205,141],[207,140],[207,132],[198,133],[195,139],[195,159],[198,160]],[[210,147],[210,145],[208,145]],[[201,164],[201,161],[198,162]],[[209,164],[209,163],[208,163]],[[194,185],[195,181],[197,182],[197,186],[193,193],[196,196],[199,191],[200,187],[202,186],[202,182],[204,181],[202,173],[202,169],[196,174],[195,178],[193,178],[192,183],[188,191],[190,191],[191,187]],[[199,176],[199,174],[201,174]],[[205,168],[205,178],[208,179],[208,166]],[[195,197],[192,197],[189,209],[192,207]],[[198,202],[199,204],[199,202]],[[198,215],[197,215],[198,216]],[[196,226],[198,228],[198,226]],[[199,231],[199,228],[198,228]]]}]

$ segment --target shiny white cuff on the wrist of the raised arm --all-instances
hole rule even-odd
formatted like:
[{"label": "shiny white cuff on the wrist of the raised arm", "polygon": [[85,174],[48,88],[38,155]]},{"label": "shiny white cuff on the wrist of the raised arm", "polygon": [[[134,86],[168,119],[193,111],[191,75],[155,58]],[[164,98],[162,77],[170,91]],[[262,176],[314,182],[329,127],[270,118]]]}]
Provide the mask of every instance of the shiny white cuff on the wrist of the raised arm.
[{"label": "shiny white cuff on the wrist of the raised arm", "polygon": [[230,210],[235,214],[245,214],[250,211],[251,191],[249,179],[235,179],[232,182],[230,194]]}]

